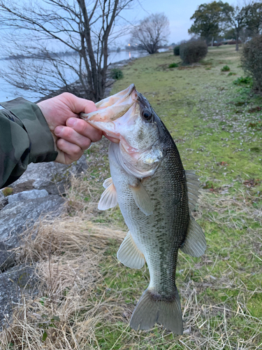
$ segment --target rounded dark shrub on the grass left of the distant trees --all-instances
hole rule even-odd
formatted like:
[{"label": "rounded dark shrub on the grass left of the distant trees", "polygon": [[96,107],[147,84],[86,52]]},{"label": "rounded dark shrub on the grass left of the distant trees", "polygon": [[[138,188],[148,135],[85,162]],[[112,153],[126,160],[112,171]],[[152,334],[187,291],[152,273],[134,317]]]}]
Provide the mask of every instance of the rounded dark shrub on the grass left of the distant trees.
[{"label": "rounded dark shrub on the grass left of the distant trees", "polygon": [[180,57],[184,64],[199,62],[208,53],[208,45],[204,41],[189,41],[180,45]]}]

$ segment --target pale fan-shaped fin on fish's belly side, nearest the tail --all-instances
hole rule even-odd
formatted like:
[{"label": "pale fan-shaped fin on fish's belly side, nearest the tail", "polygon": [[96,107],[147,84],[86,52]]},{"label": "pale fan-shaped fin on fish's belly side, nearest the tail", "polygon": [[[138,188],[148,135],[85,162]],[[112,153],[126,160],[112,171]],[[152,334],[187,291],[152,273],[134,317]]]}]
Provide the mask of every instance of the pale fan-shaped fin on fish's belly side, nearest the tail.
[{"label": "pale fan-shaped fin on fish's belly side, nearest the tail", "polygon": [[131,269],[140,269],[145,265],[144,255],[136,246],[130,232],[117,251],[117,259]]}]

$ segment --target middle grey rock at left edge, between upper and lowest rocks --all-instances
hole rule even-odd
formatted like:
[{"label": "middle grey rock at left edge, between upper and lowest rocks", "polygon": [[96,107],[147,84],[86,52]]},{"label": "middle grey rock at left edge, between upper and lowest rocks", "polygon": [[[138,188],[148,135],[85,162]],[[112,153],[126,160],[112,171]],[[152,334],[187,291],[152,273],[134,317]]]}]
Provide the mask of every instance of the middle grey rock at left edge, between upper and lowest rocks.
[{"label": "middle grey rock at left edge, between upper and lowest rocks", "polygon": [[40,216],[50,218],[64,211],[65,200],[59,195],[7,204],[0,211],[0,271],[15,265],[14,248],[20,246],[20,234],[34,225]]}]

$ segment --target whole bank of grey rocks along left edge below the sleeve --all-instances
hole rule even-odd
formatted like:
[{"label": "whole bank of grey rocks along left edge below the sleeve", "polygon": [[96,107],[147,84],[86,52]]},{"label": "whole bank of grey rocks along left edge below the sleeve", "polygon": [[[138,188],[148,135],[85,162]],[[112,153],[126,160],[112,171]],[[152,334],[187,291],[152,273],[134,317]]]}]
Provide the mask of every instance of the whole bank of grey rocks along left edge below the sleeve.
[{"label": "whole bank of grey rocks along left edge below the sleeve", "polygon": [[[24,286],[34,281],[34,267],[16,265],[15,252],[21,245],[22,233],[43,217],[52,220],[61,215],[66,210],[68,179],[86,171],[85,155],[69,166],[54,162],[30,164],[10,186],[11,195],[5,197],[0,190],[0,328],[12,314],[13,303],[19,300]],[[28,291],[26,288],[24,293]]]}]

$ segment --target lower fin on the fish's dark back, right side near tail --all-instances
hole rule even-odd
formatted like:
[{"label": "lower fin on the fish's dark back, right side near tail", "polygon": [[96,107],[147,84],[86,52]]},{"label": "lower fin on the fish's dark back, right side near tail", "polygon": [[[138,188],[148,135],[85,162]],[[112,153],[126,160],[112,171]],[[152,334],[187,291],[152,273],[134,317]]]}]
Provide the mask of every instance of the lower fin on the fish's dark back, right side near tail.
[{"label": "lower fin on the fish's dark back, right side near tail", "polygon": [[187,236],[180,249],[183,253],[199,258],[205,253],[206,248],[205,234],[195,219],[190,216]]}]

